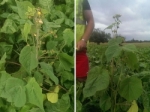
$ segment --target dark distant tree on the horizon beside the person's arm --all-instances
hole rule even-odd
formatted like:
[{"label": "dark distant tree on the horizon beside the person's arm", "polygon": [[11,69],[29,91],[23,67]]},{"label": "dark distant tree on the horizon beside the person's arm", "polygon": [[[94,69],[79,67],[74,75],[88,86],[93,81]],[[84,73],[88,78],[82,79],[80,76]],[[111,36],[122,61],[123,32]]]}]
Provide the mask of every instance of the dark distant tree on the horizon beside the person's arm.
[{"label": "dark distant tree on the horizon beside the person's arm", "polygon": [[89,41],[99,44],[100,42],[103,43],[108,42],[110,38],[111,38],[110,33],[105,33],[104,31],[101,31],[99,28],[97,28],[93,30],[93,33],[91,34]]}]

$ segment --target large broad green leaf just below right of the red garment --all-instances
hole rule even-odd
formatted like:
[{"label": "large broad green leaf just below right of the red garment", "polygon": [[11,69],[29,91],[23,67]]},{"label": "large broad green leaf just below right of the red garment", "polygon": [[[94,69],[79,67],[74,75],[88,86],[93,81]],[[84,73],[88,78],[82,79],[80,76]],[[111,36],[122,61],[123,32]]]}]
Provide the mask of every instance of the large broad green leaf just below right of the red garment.
[{"label": "large broad green leaf just below right of the red garment", "polygon": [[107,70],[102,70],[100,67],[92,68],[87,77],[85,87],[83,88],[84,97],[90,97],[97,91],[104,90],[109,85],[109,75]]}]

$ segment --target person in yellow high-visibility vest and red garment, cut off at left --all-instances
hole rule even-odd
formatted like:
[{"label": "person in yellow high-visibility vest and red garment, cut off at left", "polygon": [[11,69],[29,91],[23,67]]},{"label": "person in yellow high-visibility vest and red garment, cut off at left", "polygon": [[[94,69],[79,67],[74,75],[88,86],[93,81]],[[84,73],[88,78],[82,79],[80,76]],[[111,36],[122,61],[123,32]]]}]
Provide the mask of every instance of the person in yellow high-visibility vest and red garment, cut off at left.
[{"label": "person in yellow high-visibility vest and red garment, cut off at left", "polygon": [[94,19],[89,2],[76,0],[76,77],[80,82],[86,80],[89,70],[86,51],[93,29]]}]

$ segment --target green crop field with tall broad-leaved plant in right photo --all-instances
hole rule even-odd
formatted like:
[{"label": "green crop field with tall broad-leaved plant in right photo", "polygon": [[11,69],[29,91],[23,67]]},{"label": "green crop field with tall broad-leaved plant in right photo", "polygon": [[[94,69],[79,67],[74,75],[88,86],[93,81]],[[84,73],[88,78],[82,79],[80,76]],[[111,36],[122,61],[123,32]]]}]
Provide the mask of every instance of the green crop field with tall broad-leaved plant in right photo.
[{"label": "green crop field with tall broad-leaved plant in right photo", "polygon": [[78,85],[78,112],[149,112],[150,43],[121,42],[88,45],[90,71],[85,86]]}]

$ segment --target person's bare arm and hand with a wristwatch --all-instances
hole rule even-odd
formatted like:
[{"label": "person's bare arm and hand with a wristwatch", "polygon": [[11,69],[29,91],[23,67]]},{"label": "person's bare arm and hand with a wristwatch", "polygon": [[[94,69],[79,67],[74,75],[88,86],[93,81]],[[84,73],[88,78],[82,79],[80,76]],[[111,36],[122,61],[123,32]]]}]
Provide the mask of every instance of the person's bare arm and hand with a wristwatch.
[{"label": "person's bare arm and hand with a wristwatch", "polygon": [[85,32],[81,37],[80,41],[77,42],[77,50],[83,50],[87,46],[87,41],[90,38],[90,35],[94,29],[94,18],[91,10],[84,10],[83,16],[87,22]]}]

